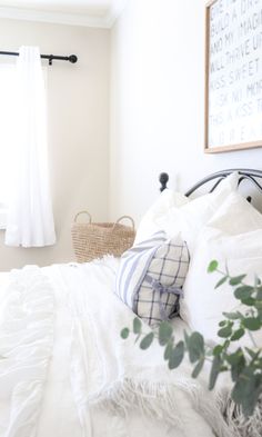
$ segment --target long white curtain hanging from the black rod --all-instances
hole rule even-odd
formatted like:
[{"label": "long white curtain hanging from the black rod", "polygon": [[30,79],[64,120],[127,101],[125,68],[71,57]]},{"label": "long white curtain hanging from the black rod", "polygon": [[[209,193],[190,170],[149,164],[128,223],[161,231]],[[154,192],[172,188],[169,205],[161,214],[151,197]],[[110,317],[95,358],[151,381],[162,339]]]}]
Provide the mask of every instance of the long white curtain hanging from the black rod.
[{"label": "long white curtain hanging from the black rod", "polygon": [[44,80],[37,47],[21,47],[17,79],[13,193],[6,245],[49,246],[56,242],[56,234],[48,177]]}]

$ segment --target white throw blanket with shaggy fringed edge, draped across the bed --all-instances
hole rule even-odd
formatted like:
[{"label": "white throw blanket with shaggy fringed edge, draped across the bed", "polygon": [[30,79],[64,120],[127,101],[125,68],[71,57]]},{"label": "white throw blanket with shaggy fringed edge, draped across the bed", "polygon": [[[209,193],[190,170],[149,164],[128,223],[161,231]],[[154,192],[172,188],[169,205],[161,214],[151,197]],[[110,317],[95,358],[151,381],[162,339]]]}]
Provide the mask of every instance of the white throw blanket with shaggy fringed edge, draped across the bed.
[{"label": "white throw blanket with shaggy fringed edge, draped across the bed", "polygon": [[[115,269],[114,262],[108,259],[107,268]],[[134,315],[113,294],[114,275],[110,287],[98,287],[99,270],[94,275],[93,267],[78,267],[74,275],[81,286],[72,300],[72,385],[82,423],[91,406],[125,420],[135,411],[161,421],[173,436],[193,437],[195,429],[203,437],[233,436],[219,408],[219,397],[206,389],[203,379],[191,378],[188,362],[171,371],[157,341],[142,351],[134,339],[120,338],[121,329],[132,326]],[[75,278],[71,278],[73,284]],[[149,328],[144,325],[143,330]]]}]

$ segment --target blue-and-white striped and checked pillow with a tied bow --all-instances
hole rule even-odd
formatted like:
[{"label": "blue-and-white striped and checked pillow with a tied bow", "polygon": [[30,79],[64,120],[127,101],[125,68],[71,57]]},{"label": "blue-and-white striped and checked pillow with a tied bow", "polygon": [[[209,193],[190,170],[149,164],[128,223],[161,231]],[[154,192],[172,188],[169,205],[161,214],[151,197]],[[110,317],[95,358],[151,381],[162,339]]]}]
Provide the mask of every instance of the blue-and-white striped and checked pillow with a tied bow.
[{"label": "blue-and-white striped and checked pillow with a tied bow", "polygon": [[178,312],[188,267],[185,241],[157,232],[122,255],[117,294],[144,321],[157,325]]}]

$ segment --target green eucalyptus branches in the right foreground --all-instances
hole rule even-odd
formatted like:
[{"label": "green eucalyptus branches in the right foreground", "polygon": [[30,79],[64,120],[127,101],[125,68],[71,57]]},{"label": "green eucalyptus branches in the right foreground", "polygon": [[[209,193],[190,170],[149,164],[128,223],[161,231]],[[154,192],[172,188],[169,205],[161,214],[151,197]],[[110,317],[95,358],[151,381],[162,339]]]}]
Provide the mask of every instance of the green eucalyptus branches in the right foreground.
[{"label": "green eucalyptus branches in the right foreground", "polygon": [[[231,397],[242,408],[244,416],[249,417],[262,396],[262,347],[256,345],[253,337],[253,332],[262,328],[262,282],[255,277],[253,286],[246,285],[246,275],[231,276],[228,268],[225,271],[219,269],[216,260],[210,262],[208,271],[216,271],[222,276],[215,288],[229,282],[235,299],[242,304],[241,310],[222,314],[223,319],[219,322],[218,330],[221,338],[219,344],[210,346],[198,331],[184,331],[183,339],[175,342],[169,321],[162,321],[157,330],[143,334],[142,322],[138,317],[133,319],[131,328],[125,327],[121,330],[121,337],[127,339],[133,334],[142,350],[148,349],[157,339],[164,348],[163,358],[170,369],[178,368],[188,354],[193,365],[193,378],[200,375],[205,360],[211,361],[210,389],[214,388],[221,373],[229,371],[233,383]],[[245,334],[250,337],[252,346],[235,346]]]}]

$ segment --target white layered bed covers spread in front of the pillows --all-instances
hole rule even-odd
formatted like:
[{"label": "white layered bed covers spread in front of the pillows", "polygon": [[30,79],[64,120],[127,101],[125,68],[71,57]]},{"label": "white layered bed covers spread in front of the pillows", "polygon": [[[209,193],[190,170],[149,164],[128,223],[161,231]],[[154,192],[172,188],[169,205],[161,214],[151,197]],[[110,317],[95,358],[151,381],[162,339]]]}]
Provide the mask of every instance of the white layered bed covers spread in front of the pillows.
[{"label": "white layered bed covers spread in front of the pillows", "polygon": [[231,436],[188,364],[170,371],[157,342],[141,351],[120,338],[133,314],[113,294],[117,268],[0,275],[0,437]]}]

